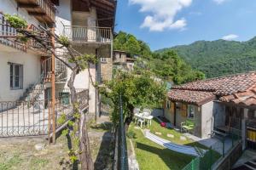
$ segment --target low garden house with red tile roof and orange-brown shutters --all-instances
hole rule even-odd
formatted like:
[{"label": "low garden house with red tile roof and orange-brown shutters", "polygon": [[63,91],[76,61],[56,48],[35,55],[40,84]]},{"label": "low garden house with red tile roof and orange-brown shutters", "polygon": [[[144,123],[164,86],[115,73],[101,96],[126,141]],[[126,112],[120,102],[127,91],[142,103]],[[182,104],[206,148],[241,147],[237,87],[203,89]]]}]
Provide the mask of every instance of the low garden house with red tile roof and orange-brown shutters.
[{"label": "low garden house with red tile roof and orange-brown shutters", "polygon": [[[212,133],[241,136],[242,148],[256,149],[256,72],[174,86],[167,94],[165,117],[201,139]],[[186,129],[186,125],[191,128]]]}]

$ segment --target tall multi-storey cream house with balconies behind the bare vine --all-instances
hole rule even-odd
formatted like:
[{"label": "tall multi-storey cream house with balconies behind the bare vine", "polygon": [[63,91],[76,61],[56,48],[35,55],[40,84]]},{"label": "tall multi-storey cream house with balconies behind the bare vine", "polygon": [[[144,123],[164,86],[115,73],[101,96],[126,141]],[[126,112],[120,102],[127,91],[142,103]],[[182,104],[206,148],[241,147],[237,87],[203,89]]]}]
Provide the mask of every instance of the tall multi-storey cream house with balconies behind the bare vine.
[{"label": "tall multi-storey cream house with balconies behind the bare vine", "polygon": [[[55,33],[68,37],[73,48],[81,54],[95,54],[98,58],[112,58],[115,1],[10,0],[3,1],[0,7],[2,13],[20,15],[35,31],[38,31],[38,26],[45,26],[45,24],[55,26]],[[15,29],[8,26],[3,14],[1,23],[1,36],[15,36]],[[36,88],[44,98],[50,98],[51,55],[47,54],[44,49],[37,48],[35,46],[37,44],[32,44],[32,42],[21,44],[11,38],[1,38],[0,41],[2,65],[0,101],[26,99],[30,95],[26,92],[32,92],[32,88]],[[65,59],[65,51],[60,50],[56,53]],[[100,63],[90,65],[94,81],[100,80],[99,68]],[[67,80],[70,74],[71,71],[56,59],[56,94],[68,93],[63,90],[68,88]],[[81,72],[74,85],[77,89],[89,89],[89,110],[90,113],[95,113],[100,102],[99,94],[90,83],[88,71]]]}]

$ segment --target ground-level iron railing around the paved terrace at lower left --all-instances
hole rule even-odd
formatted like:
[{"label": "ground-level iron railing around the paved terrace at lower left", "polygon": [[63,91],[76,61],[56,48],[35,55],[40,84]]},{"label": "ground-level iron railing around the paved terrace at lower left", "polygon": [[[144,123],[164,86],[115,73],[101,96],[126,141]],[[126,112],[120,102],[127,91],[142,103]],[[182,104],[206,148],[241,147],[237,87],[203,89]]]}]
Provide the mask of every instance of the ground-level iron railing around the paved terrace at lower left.
[{"label": "ground-level iron railing around the paved terrace at lower left", "polygon": [[[65,90],[64,90],[65,91]],[[88,89],[80,89],[81,94],[89,94]],[[81,109],[88,106],[88,95],[78,95]],[[52,132],[52,100],[42,99],[33,103],[30,101],[0,102],[0,138],[47,135]],[[58,96],[55,99],[56,128],[60,117],[65,115],[65,122],[73,118],[73,104],[70,94]]]}]

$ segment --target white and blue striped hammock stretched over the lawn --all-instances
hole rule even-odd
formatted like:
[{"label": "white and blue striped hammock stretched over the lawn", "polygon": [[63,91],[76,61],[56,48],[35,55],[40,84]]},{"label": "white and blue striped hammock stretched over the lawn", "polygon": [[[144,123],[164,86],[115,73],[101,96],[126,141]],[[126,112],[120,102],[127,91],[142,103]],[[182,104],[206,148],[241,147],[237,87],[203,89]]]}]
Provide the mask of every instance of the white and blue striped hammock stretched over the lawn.
[{"label": "white and blue striped hammock stretched over the lawn", "polygon": [[147,139],[152,140],[156,144],[160,144],[169,150],[173,150],[179,153],[183,153],[190,156],[203,156],[207,150],[202,150],[196,147],[181,145],[181,144],[173,144],[169,140],[161,139],[160,137],[150,133],[148,131],[145,132],[145,137]]}]

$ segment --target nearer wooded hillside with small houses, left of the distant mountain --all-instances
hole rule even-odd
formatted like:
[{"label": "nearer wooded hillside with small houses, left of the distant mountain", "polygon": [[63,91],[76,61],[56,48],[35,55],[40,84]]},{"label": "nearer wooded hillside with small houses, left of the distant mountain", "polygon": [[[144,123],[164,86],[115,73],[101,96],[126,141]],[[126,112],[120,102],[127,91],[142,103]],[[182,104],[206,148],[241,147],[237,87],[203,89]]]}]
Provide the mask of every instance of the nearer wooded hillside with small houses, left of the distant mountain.
[{"label": "nearer wooded hillside with small houses, left of the distant mountain", "polygon": [[201,71],[192,70],[191,66],[173,50],[161,54],[152,53],[146,42],[123,31],[120,31],[114,38],[113,48],[124,50],[130,54],[138,54],[139,58],[135,64],[137,72],[150,71],[154,76],[176,84],[205,77]]}]

